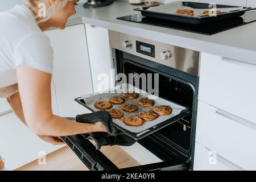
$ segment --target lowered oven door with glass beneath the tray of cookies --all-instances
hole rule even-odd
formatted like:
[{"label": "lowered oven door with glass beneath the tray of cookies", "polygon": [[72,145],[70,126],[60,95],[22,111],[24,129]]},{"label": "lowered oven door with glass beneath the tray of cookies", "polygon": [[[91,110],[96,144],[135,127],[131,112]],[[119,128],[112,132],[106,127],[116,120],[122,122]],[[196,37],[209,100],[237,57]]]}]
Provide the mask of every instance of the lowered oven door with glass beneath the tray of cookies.
[{"label": "lowered oven door with glass beneath the tray of cookies", "polygon": [[[170,154],[168,159],[166,158],[164,159],[165,161],[163,161],[163,159],[158,158],[158,156],[152,154],[150,151],[144,148],[141,144],[139,144],[139,142],[135,143],[134,146],[131,147],[123,147],[125,149],[119,146],[107,146],[108,151],[106,152],[104,147],[102,147],[100,151],[96,150],[94,144],[89,140],[84,139],[81,135],[72,135],[62,138],[64,142],[75,152],[79,159],[85,164],[85,166],[88,167],[91,171],[181,171],[189,169],[189,165],[186,164],[184,160],[173,158]],[[119,148],[119,151],[117,151],[117,147]],[[126,150],[128,152],[126,152]],[[123,158],[117,161],[115,160],[115,154],[118,155],[117,152],[120,151],[121,155],[123,155]],[[127,154],[131,154],[132,152],[134,152],[135,155],[129,156],[129,154]],[[138,152],[141,154],[138,154]],[[131,159],[129,161],[127,156],[129,156],[128,158],[135,159]]]}]

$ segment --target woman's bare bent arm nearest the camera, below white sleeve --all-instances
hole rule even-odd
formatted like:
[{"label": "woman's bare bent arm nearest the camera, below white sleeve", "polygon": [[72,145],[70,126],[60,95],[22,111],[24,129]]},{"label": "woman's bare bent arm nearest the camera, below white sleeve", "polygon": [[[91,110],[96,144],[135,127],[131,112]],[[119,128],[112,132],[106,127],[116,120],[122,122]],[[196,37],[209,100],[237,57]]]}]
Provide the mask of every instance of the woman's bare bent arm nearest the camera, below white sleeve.
[{"label": "woman's bare bent arm nearest the camera, below white sleeve", "polygon": [[52,114],[51,74],[20,66],[17,78],[24,118],[38,135],[67,136],[106,131],[102,123],[75,123]]}]

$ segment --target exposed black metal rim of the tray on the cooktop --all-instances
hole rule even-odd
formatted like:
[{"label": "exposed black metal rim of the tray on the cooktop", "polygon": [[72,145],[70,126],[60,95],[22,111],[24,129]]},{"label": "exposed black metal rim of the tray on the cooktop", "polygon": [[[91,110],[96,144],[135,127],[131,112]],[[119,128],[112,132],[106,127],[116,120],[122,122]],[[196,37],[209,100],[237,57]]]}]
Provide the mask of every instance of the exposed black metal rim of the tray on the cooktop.
[{"label": "exposed black metal rim of the tray on the cooktop", "polygon": [[[181,2],[183,6],[190,7],[192,9],[209,9],[209,3],[197,3],[197,2]],[[164,6],[164,5],[159,5]],[[154,6],[156,7],[156,6]],[[236,8],[240,6],[228,6],[228,5],[216,5],[216,9],[225,9],[225,8]],[[179,14],[170,14],[170,13],[159,13],[155,11],[150,11],[151,7],[139,7],[134,9],[135,11],[140,11],[143,16],[165,19],[174,22],[187,23],[187,24],[204,24],[210,22],[216,22],[218,20],[236,18],[245,14],[246,11],[255,10],[256,8],[243,7],[241,10],[228,11],[215,16],[204,15],[204,16],[188,16],[188,15],[179,15]]]}]

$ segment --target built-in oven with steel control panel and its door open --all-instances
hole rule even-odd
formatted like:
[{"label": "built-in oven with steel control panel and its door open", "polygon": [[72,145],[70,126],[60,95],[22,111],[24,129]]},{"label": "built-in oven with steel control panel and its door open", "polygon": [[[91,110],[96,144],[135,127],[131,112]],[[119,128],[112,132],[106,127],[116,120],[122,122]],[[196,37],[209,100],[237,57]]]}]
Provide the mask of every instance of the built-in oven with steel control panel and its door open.
[{"label": "built-in oven with steel control panel and its door open", "polygon": [[[139,139],[130,147],[102,147],[98,151],[93,142],[81,135],[63,137],[64,142],[93,171],[193,169],[199,52],[114,31],[109,31],[109,39],[115,75],[124,73],[128,77],[130,73],[144,73],[147,78],[149,73],[157,73],[159,97],[187,107],[189,115]],[[148,78],[147,84],[150,84]],[[147,87],[139,89],[148,92]],[[75,100],[85,106],[82,98]],[[120,160],[116,162],[115,158],[120,157],[117,151],[126,156],[121,159],[125,165]],[[132,158],[133,162],[127,158]]]}]

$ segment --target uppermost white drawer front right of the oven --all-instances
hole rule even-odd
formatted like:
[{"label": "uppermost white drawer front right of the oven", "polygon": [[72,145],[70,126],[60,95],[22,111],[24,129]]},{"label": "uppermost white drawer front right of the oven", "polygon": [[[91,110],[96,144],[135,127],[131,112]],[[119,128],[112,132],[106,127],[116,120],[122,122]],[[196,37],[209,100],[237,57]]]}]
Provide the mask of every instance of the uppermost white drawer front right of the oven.
[{"label": "uppermost white drawer front right of the oven", "polygon": [[256,123],[256,66],[201,54],[199,100]]}]

